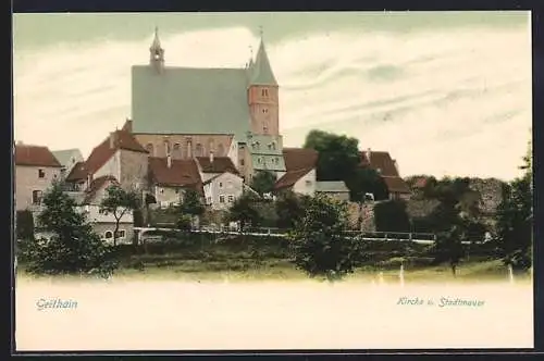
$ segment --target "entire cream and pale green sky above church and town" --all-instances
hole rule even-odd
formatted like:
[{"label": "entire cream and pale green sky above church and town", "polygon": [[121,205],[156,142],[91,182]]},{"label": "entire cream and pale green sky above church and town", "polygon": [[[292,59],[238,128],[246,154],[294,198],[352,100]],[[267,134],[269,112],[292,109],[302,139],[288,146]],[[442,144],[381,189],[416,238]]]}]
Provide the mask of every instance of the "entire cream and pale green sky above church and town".
[{"label": "entire cream and pale green sky above church and town", "polygon": [[262,27],[284,146],[322,129],[401,176],[520,175],[532,124],[529,12],[15,14],[14,136],[84,157],[131,117],[154,27],[166,65],[242,67]]}]

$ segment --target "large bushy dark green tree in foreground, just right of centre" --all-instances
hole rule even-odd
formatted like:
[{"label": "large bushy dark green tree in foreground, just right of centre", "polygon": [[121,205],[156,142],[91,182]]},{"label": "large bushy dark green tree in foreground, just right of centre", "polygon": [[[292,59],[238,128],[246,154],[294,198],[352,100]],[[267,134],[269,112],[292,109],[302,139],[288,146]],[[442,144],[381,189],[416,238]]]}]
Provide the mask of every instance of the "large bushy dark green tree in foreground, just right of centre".
[{"label": "large bushy dark green tree in foreground, just right of centre", "polygon": [[333,281],[354,271],[359,241],[344,235],[346,213],[344,203],[326,196],[308,200],[305,215],[288,238],[293,262],[310,277],[323,275]]}]

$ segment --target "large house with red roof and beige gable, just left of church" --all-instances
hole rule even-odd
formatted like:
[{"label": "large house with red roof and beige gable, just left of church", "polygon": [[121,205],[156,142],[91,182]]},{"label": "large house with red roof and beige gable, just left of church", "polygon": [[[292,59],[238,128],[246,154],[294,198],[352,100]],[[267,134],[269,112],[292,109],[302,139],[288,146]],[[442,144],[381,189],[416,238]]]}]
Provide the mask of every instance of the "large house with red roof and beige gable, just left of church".
[{"label": "large house with red roof and beige gable, just left of church", "polygon": [[111,175],[123,188],[145,189],[147,167],[148,151],[131,133],[115,130],[92,149],[85,162],[74,165],[65,182],[73,190],[83,190],[92,179]]}]

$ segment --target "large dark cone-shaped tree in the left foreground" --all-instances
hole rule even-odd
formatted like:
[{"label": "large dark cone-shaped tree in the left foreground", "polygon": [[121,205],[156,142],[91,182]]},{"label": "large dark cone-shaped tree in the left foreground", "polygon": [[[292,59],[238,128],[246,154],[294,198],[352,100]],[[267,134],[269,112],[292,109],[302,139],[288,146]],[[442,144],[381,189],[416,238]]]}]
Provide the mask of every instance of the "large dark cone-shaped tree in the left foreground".
[{"label": "large dark cone-shaped tree in the left foreground", "polygon": [[28,242],[28,271],[36,274],[90,273],[110,275],[116,267],[112,248],[92,232],[86,214],[78,211],[60,183],[44,195],[38,225],[51,233],[50,239]]}]

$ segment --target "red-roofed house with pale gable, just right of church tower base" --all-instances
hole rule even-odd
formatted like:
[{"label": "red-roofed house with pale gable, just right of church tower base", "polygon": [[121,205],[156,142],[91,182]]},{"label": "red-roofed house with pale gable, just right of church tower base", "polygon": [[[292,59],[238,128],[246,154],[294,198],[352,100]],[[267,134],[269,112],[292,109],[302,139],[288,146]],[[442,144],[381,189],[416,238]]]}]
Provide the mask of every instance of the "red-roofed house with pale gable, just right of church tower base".
[{"label": "red-roofed house with pale gable, just right of church tower base", "polygon": [[313,149],[284,148],[286,172],[280,174],[274,185],[276,192],[290,189],[296,194],[313,196],[318,152]]}]

